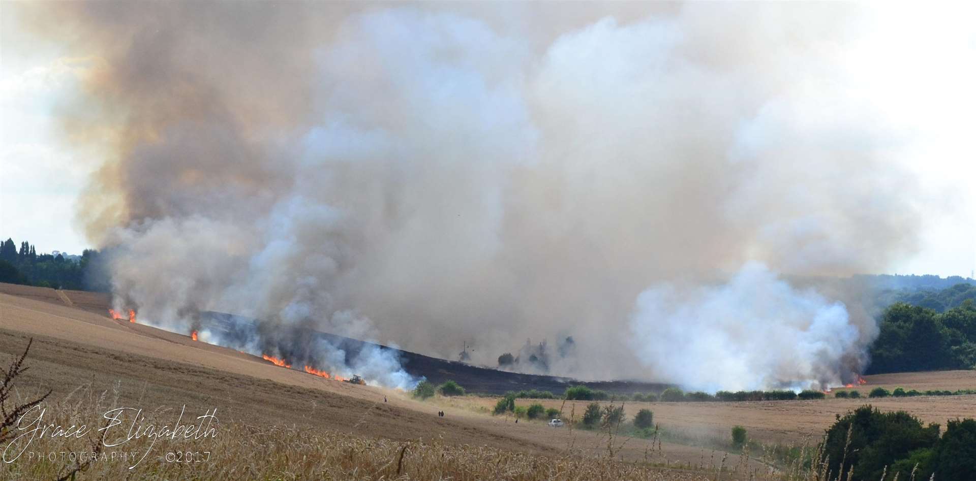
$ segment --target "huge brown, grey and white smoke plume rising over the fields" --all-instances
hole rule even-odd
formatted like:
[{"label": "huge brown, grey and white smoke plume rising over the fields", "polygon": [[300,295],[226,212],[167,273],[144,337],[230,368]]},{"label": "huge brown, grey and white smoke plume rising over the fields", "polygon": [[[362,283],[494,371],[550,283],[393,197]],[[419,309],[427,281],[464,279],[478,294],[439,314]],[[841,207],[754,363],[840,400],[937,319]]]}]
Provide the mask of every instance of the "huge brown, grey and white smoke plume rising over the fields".
[{"label": "huge brown, grey and white smoke plume rising over the fields", "polygon": [[155,2],[25,7],[95,56],[72,139],[116,299],[472,362],[708,389],[844,381],[829,283],[915,248],[857,6]]}]

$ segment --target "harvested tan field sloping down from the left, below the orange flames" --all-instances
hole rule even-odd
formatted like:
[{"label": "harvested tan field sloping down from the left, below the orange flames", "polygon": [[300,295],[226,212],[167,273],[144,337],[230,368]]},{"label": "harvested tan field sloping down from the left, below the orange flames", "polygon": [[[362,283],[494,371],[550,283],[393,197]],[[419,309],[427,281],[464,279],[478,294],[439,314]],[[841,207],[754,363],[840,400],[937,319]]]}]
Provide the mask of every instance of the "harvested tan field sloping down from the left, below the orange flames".
[{"label": "harvested tan field sloping down from the left, below the orange flames", "polygon": [[[733,455],[716,453],[712,449],[661,442],[660,439],[610,440],[585,430],[556,429],[542,422],[515,423],[507,418],[474,413],[467,407],[418,402],[393,389],[323,380],[275,366],[249,354],[192,341],[182,334],[125,319],[112,320],[78,306],[44,299],[47,291],[41,294],[26,292],[27,297],[0,294],[0,352],[10,356],[20,354],[27,341],[33,339],[26,361],[29,369],[18,379],[18,394],[26,399],[51,389],[51,413],[61,413],[62,417],[70,419],[87,419],[93,426],[101,425],[103,420],[96,414],[106,408],[141,408],[150,420],[163,423],[174,422],[185,406],[183,420],[195,419],[216,409],[221,425],[228,426],[229,430],[255,436],[265,436],[269,432],[290,432],[299,436],[296,439],[279,438],[282,449],[300,444],[302,440],[312,445],[329,444],[337,439],[336,436],[351,436],[343,438],[344,442],[374,446],[386,454],[395,454],[397,449],[406,446],[403,443],[414,443],[414,446],[432,443],[434,448],[430,449],[442,450],[452,456],[491,456],[495,460],[522,464],[532,457],[542,456],[547,460],[562,460],[559,462],[564,464],[557,464],[567,469],[576,462],[574,460],[605,460],[609,453],[616,460],[614,462],[627,461],[619,469],[599,471],[606,473],[604,479],[630,476],[622,474],[624,471],[620,469],[637,469],[635,473],[644,473],[647,468],[659,469],[655,466],[662,465],[677,469],[674,472],[680,473],[680,479],[693,479],[699,472],[695,470],[696,466],[724,465],[728,468],[736,464]],[[385,397],[388,402],[384,401]],[[446,416],[439,418],[437,411],[444,411]],[[49,414],[46,421],[67,420],[55,420]],[[33,445],[31,450],[38,446],[53,449],[60,441],[46,440],[46,445]],[[246,452],[222,444],[227,441],[225,438],[219,441],[221,449],[211,449],[216,441],[209,439],[182,443],[178,449],[194,453],[207,450],[215,459],[241,456]],[[84,451],[84,445],[77,446],[78,442],[72,449]],[[295,449],[296,456],[309,460],[308,465],[304,464],[297,472],[315,472],[315,466],[327,462],[331,456],[339,456],[322,453],[323,444],[315,446],[314,449],[288,448]],[[415,454],[419,455],[421,451],[417,448]],[[152,462],[156,464],[150,464],[163,462],[160,457],[164,456],[164,451],[154,451],[153,454],[155,460]],[[316,461],[316,457],[325,458]],[[415,462],[408,455],[404,457],[406,466]],[[142,465],[146,465],[144,462]],[[629,462],[638,462],[643,467],[638,469]],[[109,464],[117,467],[110,462],[103,465]],[[199,463],[201,466],[205,464],[217,465]],[[30,465],[40,471],[20,471],[15,462],[5,465],[0,477],[44,478],[49,471],[57,471],[51,471],[54,467],[45,463],[40,465],[48,467],[37,467],[36,463]],[[677,465],[682,467],[673,467]],[[738,465],[740,475],[746,471],[747,465],[753,473],[766,469],[761,462],[742,458]],[[374,467],[376,470],[369,472],[390,474],[388,465]],[[572,470],[584,476],[580,479],[590,478],[584,474],[588,471],[580,471],[579,466]],[[107,472],[102,474],[107,476]],[[182,476],[193,471],[183,469],[179,472]],[[225,473],[211,474],[225,476]]]}]

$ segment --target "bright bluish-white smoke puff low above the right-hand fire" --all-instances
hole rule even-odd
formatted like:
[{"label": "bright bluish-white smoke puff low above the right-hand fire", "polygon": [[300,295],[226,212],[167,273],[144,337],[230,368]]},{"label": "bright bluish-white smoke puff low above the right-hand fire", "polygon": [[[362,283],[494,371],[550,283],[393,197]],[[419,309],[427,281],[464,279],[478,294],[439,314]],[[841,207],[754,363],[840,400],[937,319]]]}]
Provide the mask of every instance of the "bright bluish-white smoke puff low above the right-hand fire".
[{"label": "bright bluish-white smoke puff low above the right-hand fire", "polygon": [[843,303],[794,289],[754,262],[725,284],[644,291],[630,332],[645,366],[711,392],[843,385],[853,374],[844,356],[865,342]]}]

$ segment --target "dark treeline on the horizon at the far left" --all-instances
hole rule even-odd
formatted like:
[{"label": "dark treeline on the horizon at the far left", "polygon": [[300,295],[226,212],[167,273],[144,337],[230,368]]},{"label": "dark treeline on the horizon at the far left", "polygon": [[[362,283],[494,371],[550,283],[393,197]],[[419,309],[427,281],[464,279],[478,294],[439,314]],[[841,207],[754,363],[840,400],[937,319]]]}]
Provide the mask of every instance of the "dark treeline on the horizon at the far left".
[{"label": "dark treeline on the horizon at the far left", "polygon": [[71,259],[61,253],[37,254],[36,247],[27,241],[20,242],[20,247],[12,238],[0,242],[0,282],[107,292],[107,278],[100,253],[94,249],[86,249],[80,257]]}]

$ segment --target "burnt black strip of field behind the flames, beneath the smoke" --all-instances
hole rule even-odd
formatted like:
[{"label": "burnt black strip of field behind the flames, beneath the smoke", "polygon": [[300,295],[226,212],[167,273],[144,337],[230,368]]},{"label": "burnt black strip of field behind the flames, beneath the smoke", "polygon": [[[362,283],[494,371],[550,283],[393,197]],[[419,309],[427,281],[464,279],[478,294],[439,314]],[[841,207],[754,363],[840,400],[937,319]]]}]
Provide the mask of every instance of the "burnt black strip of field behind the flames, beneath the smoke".
[{"label": "burnt black strip of field behind the flames, beneath the smoke", "polygon": [[469,393],[476,394],[504,394],[508,391],[538,389],[559,396],[567,387],[577,384],[616,394],[660,393],[671,385],[643,381],[577,381],[556,376],[510,373],[307,328],[283,329],[277,324],[272,326],[271,323],[223,312],[202,312],[199,327],[220,335],[224,343],[234,348],[247,347],[249,341],[260,339],[260,346],[265,352],[280,354],[295,366],[305,362],[315,363],[316,350],[321,345],[319,341],[325,341],[334,348],[345,351],[346,363],[355,359],[364,349],[381,349],[398,358],[404,371],[411,376],[425,378],[435,384],[454,380]]}]

